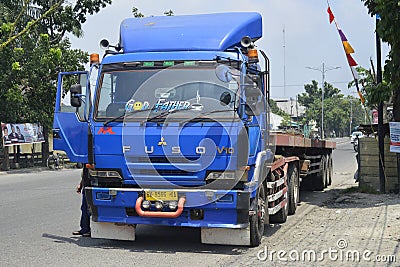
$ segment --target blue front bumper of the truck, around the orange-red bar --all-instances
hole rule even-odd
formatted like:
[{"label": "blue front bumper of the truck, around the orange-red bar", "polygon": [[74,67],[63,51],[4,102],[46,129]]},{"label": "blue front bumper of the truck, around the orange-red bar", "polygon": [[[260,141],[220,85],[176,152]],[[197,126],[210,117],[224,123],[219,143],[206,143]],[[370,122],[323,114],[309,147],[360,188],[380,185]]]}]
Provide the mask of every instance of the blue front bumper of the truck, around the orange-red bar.
[{"label": "blue front bumper of the truck, around the orange-red bar", "polygon": [[[154,189],[152,189],[154,190]],[[143,217],[135,210],[141,188],[85,188],[92,220],[121,224],[246,228],[249,223],[250,193],[240,190],[178,189],[184,197],[182,213],[176,218]],[[166,190],[162,190],[166,191]],[[199,214],[201,214],[199,216]]]}]

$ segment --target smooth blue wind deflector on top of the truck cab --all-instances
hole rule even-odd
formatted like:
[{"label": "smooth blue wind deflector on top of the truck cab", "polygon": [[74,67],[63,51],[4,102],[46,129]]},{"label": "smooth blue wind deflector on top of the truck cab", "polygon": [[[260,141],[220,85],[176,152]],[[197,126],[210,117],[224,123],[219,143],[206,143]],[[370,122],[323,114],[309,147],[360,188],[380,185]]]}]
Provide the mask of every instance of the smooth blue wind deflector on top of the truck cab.
[{"label": "smooth blue wind deflector on top of the truck cab", "polygon": [[124,53],[161,51],[226,51],[244,36],[262,36],[256,12],[128,18],[120,27]]}]

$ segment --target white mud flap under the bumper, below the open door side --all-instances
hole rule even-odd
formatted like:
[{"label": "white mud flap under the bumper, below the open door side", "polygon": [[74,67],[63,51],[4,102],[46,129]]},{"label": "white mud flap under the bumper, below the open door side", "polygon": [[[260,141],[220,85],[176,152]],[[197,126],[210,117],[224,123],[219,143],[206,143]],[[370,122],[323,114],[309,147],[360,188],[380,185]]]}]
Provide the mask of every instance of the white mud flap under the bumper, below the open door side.
[{"label": "white mud flap under the bumper, below the open door side", "polygon": [[135,225],[91,222],[92,238],[135,241]]}]

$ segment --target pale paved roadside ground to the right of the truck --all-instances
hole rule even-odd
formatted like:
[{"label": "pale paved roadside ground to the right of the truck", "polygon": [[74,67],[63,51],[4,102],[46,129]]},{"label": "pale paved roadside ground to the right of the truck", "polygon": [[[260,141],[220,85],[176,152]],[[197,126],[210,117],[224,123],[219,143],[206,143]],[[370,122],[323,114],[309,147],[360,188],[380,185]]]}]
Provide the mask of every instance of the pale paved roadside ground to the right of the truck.
[{"label": "pale paved roadside ground to the right of the truck", "polygon": [[335,177],[324,192],[301,192],[296,214],[270,225],[260,247],[220,265],[400,266],[399,195],[359,193],[352,173]]}]

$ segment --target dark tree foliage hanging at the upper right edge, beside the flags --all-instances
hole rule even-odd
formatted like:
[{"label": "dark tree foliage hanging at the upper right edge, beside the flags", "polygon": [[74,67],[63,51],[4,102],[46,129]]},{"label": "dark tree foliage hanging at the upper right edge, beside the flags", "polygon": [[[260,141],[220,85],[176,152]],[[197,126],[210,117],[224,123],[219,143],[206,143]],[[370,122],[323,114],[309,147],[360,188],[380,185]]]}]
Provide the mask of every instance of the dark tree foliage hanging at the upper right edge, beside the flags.
[{"label": "dark tree foliage hanging at the upper right edge, beside the flags", "polygon": [[[400,1],[361,0],[371,15],[380,15],[378,34],[390,45],[389,57],[385,63],[385,79],[393,92],[393,115],[400,121]],[[381,88],[376,88],[380,91]],[[383,100],[389,100],[388,98]]]}]

